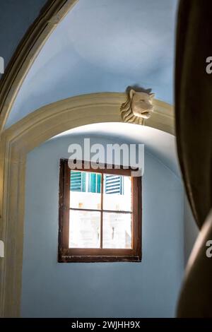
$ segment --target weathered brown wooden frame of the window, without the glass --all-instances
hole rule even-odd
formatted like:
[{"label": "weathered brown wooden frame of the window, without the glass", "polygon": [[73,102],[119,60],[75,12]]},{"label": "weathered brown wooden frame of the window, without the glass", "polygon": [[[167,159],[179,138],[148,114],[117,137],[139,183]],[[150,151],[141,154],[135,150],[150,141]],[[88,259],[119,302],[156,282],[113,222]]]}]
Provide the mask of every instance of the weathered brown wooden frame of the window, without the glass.
[{"label": "weathered brown wooden frame of the window, without the glass", "polygon": [[[82,161],[82,165],[84,162]],[[79,169],[76,169],[79,170]],[[95,172],[100,174],[118,174],[131,176],[132,169],[124,169],[121,166],[117,169],[112,165],[112,169],[93,170],[84,169],[79,171]],[[117,262],[117,261],[141,261],[141,177],[131,177],[132,179],[132,248],[131,249],[104,249],[104,248],[69,248],[69,209],[70,209],[70,174],[71,170],[67,159],[60,160],[59,170],[59,244],[58,244],[58,262]],[[102,177],[103,179],[103,177]],[[101,183],[101,194],[102,194]],[[89,211],[89,209],[86,209]],[[95,211],[91,209],[90,211]],[[101,211],[101,210],[100,210]],[[110,211],[113,212],[113,211]],[[114,211],[117,213],[117,211]],[[120,212],[118,212],[120,213]],[[102,213],[101,213],[102,214]],[[102,244],[102,218],[101,218],[101,238]]]}]

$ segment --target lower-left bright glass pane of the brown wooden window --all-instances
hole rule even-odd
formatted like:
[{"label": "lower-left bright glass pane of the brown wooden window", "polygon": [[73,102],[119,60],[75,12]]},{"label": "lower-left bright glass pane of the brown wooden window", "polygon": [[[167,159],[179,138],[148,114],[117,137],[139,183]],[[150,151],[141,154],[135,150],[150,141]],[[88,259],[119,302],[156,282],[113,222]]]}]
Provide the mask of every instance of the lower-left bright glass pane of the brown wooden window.
[{"label": "lower-left bright glass pane of the brown wooden window", "polygon": [[69,248],[100,247],[100,212],[70,210]]}]

